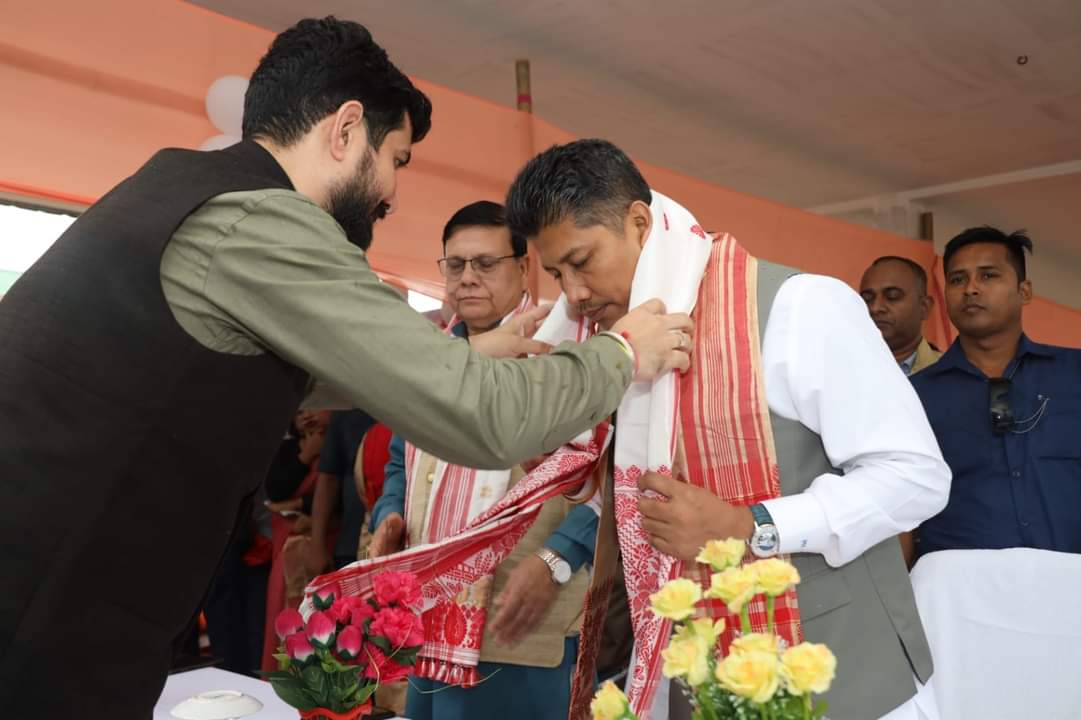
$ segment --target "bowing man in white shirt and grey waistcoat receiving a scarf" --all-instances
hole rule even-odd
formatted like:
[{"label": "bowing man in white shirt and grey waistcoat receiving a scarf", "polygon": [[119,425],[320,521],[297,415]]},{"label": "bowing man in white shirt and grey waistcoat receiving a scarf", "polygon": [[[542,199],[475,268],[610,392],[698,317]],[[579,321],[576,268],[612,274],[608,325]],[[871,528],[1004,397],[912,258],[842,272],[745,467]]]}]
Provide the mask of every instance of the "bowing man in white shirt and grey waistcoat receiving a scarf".
[{"label": "bowing man in white shirt and grey waistcoat receiving a scarf", "polygon": [[[535,243],[568,303],[604,329],[627,311],[651,232],[650,198],[617,148],[579,141],[526,165],[508,196],[508,222]],[[803,577],[803,635],[838,656],[829,717],[934,718],[913,699],[932,665],[896,536],[942,510],[949,468],[852,289],[759,263],[757,299],[779,496],[730,504],[650,472],[639,488],[665,499],[640,495],[641,526],[655,548],[688,568],[713,538],[746,537],[760,557],[791,555]],[[707,332],[716,330],[699,319],[696,333]],[[682,695],[671,699],[671,717],[689,717]]]}]

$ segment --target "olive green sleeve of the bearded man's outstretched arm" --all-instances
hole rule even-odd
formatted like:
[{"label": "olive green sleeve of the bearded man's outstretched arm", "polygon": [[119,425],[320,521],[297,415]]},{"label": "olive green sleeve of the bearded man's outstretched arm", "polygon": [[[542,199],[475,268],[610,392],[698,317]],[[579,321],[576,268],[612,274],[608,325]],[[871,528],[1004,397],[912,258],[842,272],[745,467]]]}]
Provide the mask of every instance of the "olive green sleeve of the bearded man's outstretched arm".
[{"label": "olive green sleeve of the bearded man's outstretched arm", "polygon": [[334,219],[265,192],[218,241],[205,296],[225,320],[452,463],[504,468],[601,422],[631,361],[606,337],[494,360],[415,312]]}]

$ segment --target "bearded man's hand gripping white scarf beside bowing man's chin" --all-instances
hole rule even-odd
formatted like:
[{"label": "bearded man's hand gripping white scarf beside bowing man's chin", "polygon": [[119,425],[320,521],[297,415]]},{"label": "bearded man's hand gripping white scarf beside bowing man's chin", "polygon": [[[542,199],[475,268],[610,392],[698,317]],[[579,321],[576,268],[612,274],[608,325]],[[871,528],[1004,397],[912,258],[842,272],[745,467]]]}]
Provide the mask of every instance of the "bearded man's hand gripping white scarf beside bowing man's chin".
[{"label": "bearded man's hand gripping white scarf beside bowing man's chin", "polygon": [[636,381],[653,379],[669,370],[686,371],[694,348],[694,322],[685,312],[665,315],[665,304],[653,298],[612,325],[635,349]]}]

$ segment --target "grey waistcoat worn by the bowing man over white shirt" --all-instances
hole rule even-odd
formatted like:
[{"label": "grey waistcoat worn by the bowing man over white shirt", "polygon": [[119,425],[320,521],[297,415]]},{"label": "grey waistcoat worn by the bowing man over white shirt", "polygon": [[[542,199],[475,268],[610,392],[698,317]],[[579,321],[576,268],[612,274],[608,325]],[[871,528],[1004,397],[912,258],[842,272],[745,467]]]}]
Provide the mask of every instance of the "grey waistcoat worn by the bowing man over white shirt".
[{"label": "grey waistcoat worn by the bowing man over white shirt", "polygon": [[[797,272],[759,262],[760,341],[777,290]],[[803,492],[824,472],[841,474],[830,465],[816,434],[772,411],[770,422],[783,495]],[[827,717],[873,720],[912,697],[912,675],[926,682],[933,668],[897,538],[879,543],[841,568],[831,568],[817,554],[798,554],[791,560],[802,578],[797,595],[803,634],[837,655]]]}]

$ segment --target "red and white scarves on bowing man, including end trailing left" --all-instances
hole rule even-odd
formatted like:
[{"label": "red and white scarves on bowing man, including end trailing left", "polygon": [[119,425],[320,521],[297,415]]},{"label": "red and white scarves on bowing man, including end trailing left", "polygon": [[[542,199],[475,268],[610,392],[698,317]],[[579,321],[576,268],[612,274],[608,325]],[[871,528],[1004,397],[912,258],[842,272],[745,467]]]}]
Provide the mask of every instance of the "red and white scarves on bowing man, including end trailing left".
[{"label": "red and white scarves on bowing man, including end trailing left", "polygon": [[[692,484],[734,504],[776,497],[780,491],[761,373],[757,262],[731,236],[710,239],[685,209],[659,192],[653,192],[651,211],[653,226],[638,262],[630,305],[659,297],[669,312],[694,312],[697,332],[691,372],[679,382],[668,374],[632,384],[618,410],[615,515],[635,628],[627,692],[642,720],[651,714],[664,717],[654,709],[665,702],[665,694],[658,697],[657,692],[667,688],[660,677],[660,651],[671,630],[669,622],[650,612],[649,596],[684,569],[649,544],[638,512],[638,478],[645,471],[670,475],[682,434],[688,476],[683,479]],[[707,268],[708,284],[699,295]],[[704,302],[696,308],[699,297]],[[535,337],[555,345],[583,341],[590,330],[572,315],[561,296]],[[428,606],[453,597],[490,574],[509,555],[546,499],[583,492],[582,485],[596,469],[608,440],[609,426],[603,424],[556,451],[499,503],[470,521],[463,533],[318,577],[309,585],[309,594],[339,582],[347,595],[368,596],[373,574],[406,570],[421,579]],[[593,490],[585,492],[591,495]],[[777,608],[778,631],[798,641],[795,592],[778,598]],[[726,613],[718,603],[705,610],[718,616]],[[762,609],[751,608],[751,621],[756,629],[764,628]],[[588,644],[589,639],[584,639],[583,645]],[[572,714],[585,699],[577,692],[583,683],[575,686]]]}]

